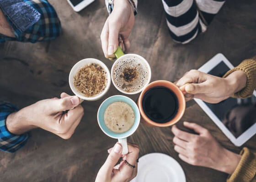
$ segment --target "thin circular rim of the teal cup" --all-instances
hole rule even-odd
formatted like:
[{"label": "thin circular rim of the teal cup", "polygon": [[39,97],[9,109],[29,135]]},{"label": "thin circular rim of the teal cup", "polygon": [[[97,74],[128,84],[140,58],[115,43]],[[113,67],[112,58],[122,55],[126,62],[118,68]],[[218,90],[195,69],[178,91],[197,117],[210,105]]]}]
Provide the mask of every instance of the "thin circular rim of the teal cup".
[{"label": "thin circular rim of the teal cup", "polygon": [[[132,103],[134,104],[134,106],[135,106],[137,112],[139,113],[139,116],[138,116],[138,117],[139,117],[139,118],[138,118],[139,121],[136,123],[134,130],[133,130],[131,133],[129,133],[128,135],[123,136],[123,137],[111,136],[111,135],[108,134],[105,130],[103,130],[103,128],[101,127],[100,121],[99,121],[99,112],[100,112],[101,106],[102,106],[102,105],[104,104],[104,102],[106,102],[107,100],[111,99],[112,97],[117,97],[117,96],[125,97],[125,98],[127,98],[128,100],[132,101]],[[111,137],[111,138],[115,138],[115,139],[127,138],[128,136],[131,136],[131,135],[138,129],[138,127],[139,127],[139,123],[140,123],[140,111],[139,111],[139,107],[137,106],[136,102],[134,102],[134,101],[133,101],[131,98],[129,98],[128,96],[122,96],[122,95],[110,96],[110,97],[108,97],[107,99],[105,99],[105,100],[101,103],[101,105],[99,106],[99,109],[98,109],[98,111],[97,111],[97,121],[98,121],[98,125],[99,125],[100,128],[101,128],[101,131],[103,131],[103,133],[105,133],[107,136],[109,136],[109,137]],[[131,130],[131,129],[130,129],[130,130]],[[130,130],[128,130],[128,131],[130,131]],[[125,132],[127,132],[127,131],[125,131]]]}]

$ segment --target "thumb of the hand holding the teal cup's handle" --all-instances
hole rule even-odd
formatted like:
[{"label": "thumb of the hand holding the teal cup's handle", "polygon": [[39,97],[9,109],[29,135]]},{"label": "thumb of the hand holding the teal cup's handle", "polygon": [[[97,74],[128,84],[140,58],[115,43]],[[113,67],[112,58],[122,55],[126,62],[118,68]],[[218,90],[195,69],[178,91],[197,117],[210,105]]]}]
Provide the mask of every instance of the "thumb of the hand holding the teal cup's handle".
[{"label": "thumb of the hand holding the teal cup's handle", "polygon": [[122,156],[122,146],[119,143],[116,143],[113,147],[112,151],[107,157],[106,162],[103,164],[102,168],[105,172],[108,174],[111,174],[113,171],[113,168],[115,167],[116,163]]}]

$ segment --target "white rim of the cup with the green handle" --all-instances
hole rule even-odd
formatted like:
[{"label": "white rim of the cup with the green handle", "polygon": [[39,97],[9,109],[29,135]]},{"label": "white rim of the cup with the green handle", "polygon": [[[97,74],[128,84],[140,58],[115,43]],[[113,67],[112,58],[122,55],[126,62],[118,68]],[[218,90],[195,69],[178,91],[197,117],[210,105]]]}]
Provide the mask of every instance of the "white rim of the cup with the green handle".
[{"label": "white rim of the cup with the green handle", "polygon": [[[148,79],[148,81],[146,82],[145,86],[142,87],[139,91],[136,91],[136,92],[127,92],[127,91],[123,91],[123,90],[121,90],[121,89],[116,85],[116,83],[115,83],[115,81],[114,81],[114,79],[113,79],[112,73],[113,73],[114,66],[117,64],[117,61],[119,61],[121,58],[123,59],[123,56],[137,56],[137,57],[139,57],[142,61],[144,61],[144,63],[145,63],[146,66],[148,67],[148,70],[149,70],[149,79]],[[146,86],[149,85],[149,82],[150,82],[150,80],[151,80],[151,68],[150,68],[150,66],[149,66],[149,62],[148,62],[144,57],[142,57],[142,56],[140,56],[140,55],[138,55],[138,54],[125,54],[125,55],[123,55],[123,56],[119,57],[119,58],[114,62],[114,64],[112,65],[112,68],[111,68],[111,81],[112,81],[112,84],[116,87],[116,89],[117,89],[118,91],[122,92],[123,94],[127,94],[127,95],[135,95],[135,94],[138,94],[138,93],[140,93],[141,91],[143,91],[144,88],[146,88]]]}]

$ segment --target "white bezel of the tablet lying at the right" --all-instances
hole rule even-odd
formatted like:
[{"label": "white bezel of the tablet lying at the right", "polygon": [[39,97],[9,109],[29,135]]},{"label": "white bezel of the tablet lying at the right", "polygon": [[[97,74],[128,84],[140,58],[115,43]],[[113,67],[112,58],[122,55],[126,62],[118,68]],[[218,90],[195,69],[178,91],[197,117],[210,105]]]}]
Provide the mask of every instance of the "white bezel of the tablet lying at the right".
[{"label": "white bezel of the tablet lying at the right", "polygon": [[[213,67],[217,66],[221,61],[223,61],[229,69],[233,69],[234,66],[227,60],[227,58],[219,53],[215,55],[211,60],[206,62],[203,66],[201,66],[198,71],[202,71],[208,73],[213,69]],[[256,91],[253,92],[253,95],[256,96]],[[242,133],[239,137],[235,138],[235,136],[226,128],[222,121],[213,113],[213,111],[200,99],[194,99],[197,104],[206,112],[206,114],[213,120],[213,122],[220,128],[220,130],[229,138],[229,140],[235,144],[235,146],[240,147],[246,141],[248,141],[253,135],[256,134],[256,123],[254,123],[250,128],[248,128],[244,133]]]}]

